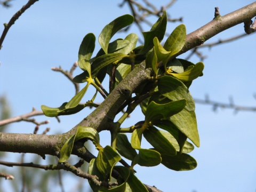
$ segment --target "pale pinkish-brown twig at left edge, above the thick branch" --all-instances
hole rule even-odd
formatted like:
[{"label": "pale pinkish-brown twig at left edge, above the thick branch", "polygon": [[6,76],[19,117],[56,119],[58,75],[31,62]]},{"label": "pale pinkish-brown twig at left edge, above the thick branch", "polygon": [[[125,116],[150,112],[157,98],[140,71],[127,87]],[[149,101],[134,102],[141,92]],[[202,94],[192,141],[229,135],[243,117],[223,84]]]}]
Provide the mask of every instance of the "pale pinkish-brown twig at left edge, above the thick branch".
[{"label": "pale pinkish-brown twig at left edge, above the thick branch", "polygon": [[29,119],[29,117],[37,116],[37,115],[44,115],[44,113],[43,113],[43,111],[38,111],[35,108],[33,108],[33,110],[30,113],[27,113],[25,115],[20,115],[17,117],[12,117],[12,118],[4,119],[4,120],[0,121],[0,126],[6,125],[9,123],[20,122],[20,121],[33,122],[36,125],[39,125],[41,123],[42,124],[49,123],[49,121],[44,121],[44,122],[38,123],[35,121],[35,119]]}]

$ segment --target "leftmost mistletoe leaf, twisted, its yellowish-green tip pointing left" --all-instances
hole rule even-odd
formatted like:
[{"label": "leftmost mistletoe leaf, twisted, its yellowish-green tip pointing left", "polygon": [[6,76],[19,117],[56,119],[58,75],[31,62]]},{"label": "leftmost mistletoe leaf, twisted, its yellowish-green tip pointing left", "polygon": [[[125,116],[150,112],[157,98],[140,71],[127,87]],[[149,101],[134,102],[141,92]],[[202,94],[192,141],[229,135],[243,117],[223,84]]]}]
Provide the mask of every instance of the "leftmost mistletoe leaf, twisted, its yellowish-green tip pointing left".
[{"label": "leftmost mistletoe leaf, twisted, its yellowish-green tip pointing left", "polygon": [[57,117],[60,115],[72,115],[76,114],[82,109],[85,108],[85,105],[79,104],[74,108],[68,108],[66,109],[65,106],[67,105],[67,102],[63,103],[60,107],[58,108],[52,108],[52,107],[47,107],[45,105],[41,106],[41,109],[44,113],[45,116],[47,117]]}]

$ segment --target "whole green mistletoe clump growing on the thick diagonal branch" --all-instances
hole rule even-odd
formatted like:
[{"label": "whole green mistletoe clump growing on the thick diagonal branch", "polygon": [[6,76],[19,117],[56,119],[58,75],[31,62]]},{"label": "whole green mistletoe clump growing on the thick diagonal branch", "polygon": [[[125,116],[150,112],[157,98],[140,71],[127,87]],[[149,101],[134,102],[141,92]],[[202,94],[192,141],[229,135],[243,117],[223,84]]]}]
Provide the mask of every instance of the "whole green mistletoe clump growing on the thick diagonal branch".
[{"label": "whole green mistletoe clump growing on the thick diagonal branch", "polygon": [[[101,49],[95,57],[92,57],[95,36],[92,33],[87,34],[78,52],[78,66],[83,73],[73,79],[76,83],[85,83],[85,87],[69,102],[63,103],[58,108],[42,106],[46,116],[71,115],[87,106],[100,108],[94,103],[98,92],[105,100],[101,105],[108,105],[107,98],[110,94],[118,92],[125,95],[126,99],[121,105],[112,107],[111,111],[101,115],[102,117],[97,116],[103,121],[108,116],[122,113],[127,107],[117,122],[114,122],[113,118],[113,121],[109,121],[105,126],[111,133],[111,146],[100,145],[99,132],[105,128],[101,126],[99,129],[92,123],[91,126],[78,125],[75,131],[73,130],[74,134],[67,139],[60,150],[59,163],[64,163],[71,155],[76,142],[87,140],[93,142],[99,153],[97,158],[90,161],[88,173],[97,175],[99,181],[107,183],[107,185],[97,185],[97,182],[89,181],[94,191],[147,191],[134,175],[133,168],[137,164],[157,166],[162,163],[175,171],[192,170],[197,165],[195,159],[188,155],[194,146],[187,139],[199,147],[195,102],[188,89],[195,78],[203,75],[204,65],[202,62],[195,65],[174,58],[185,45],[185,25],[175,28],[162,46],[160,42],[164,38],[167,24],[165,12],[150,31],[143,33],[144,45],[136,47],[138,36],[133,33],[124,39],[110,42],[117,31],[131,25],[133,21],[132,15],[126,14],[105,26],[99,35]],[[141,86],[133,92],[126,89],[127,87],[119,89],[118,84],[121,84],[125,78],[131,78],[129,74],[132,70],[141,67],[150,74],[148,80],[140,83]],[[109,76],[109,92],[101,85],[106,75]],[[81,104],[90,85],[97,91],[90,101]],[[137,106],[141,107],[145,119],[141,119],[131,127],[121,127]],[[95,113],[94,111],[92,113]],[[130,141],[126,133],[131,133]],[[141,147],[142,136],[153,146],[152,148]],[[121,161],[121,156],[129,159],[131,165],[115,166]],[[115,187],[109,182],[113,172],[118,173]]]}]

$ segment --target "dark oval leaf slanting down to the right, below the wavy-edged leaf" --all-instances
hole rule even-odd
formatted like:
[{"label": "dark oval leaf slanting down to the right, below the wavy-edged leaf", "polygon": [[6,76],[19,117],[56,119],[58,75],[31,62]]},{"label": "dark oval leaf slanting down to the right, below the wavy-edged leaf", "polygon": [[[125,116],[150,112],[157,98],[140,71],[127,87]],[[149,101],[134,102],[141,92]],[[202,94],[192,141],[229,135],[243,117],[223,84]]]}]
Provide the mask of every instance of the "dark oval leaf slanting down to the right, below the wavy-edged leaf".
[{"label": "dark oval leaf slanting down to the right, below the wavy-edged leaf", "polygon": [[143,132],[143,136],[157,151],[169,155],[176,155],[176,149],[172,143],[156,127],[150,126],[149,129]]}]

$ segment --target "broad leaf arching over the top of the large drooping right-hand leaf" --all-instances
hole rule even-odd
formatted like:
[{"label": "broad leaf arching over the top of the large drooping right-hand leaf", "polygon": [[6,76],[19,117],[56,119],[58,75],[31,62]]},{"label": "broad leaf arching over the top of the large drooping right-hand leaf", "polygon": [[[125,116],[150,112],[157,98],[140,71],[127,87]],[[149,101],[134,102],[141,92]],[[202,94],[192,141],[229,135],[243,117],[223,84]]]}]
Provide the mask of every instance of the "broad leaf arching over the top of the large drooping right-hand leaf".
[{"label": "broad leaf arching over the top of the large drooping right-hand leaf", "polygon": [[189,111],[195,110],[195,102],[188,88],[177,78],[172,76],[163,76],[157,81],[158,91],[172,101],[182,98],[187,100],[185,109]]}]

